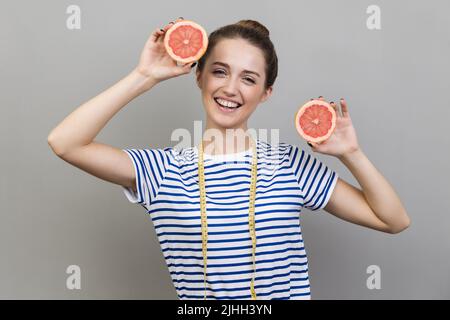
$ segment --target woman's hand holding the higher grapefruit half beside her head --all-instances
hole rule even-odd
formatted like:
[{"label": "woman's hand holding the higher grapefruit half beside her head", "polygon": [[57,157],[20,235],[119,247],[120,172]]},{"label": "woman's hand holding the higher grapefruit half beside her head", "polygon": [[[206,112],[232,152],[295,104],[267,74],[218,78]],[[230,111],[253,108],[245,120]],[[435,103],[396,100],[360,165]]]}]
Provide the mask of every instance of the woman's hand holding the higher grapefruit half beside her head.
[{"label": "woman's hand holding the higher grapefruit half beside her head", "polygon": [[[175,22],[182,21],[180,17]],[[155,29],[145,43],[142,50],[139,64],[136,71],[154,83],[173,78],[191,71],[192,63],[181,66],[169,56],[164,46],[164,36],[166,31],[173,26],[174,22],[170,22],[161,31]]]}]

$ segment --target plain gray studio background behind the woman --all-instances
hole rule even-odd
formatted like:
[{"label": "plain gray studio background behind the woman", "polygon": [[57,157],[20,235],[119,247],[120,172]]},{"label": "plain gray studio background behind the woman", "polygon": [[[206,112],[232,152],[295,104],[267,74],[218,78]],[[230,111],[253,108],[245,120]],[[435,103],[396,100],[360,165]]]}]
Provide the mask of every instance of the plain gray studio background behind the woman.
[{"label": "plain gray studio background behind the woman", "polygon": [[[66,8],[81,8],[81,29]],[[366,9],[381,8],[381,30]],[[412,224],[390,235],[304,211],[313,299],[450,298],[450,5],[448,1],[8,1],[0,12],[0,298],[177,299],[150,216],[120,186],[55,156],[47,136],[138,62],[150,32],[183,16],[212,30],[255,19],[271,33],[279,76],[249,127],[293,126],[300,104],[345,97],[361,148],[394,186]],[[154,87],[97,136],[165,147],[204,120],[194,73]],[[336,158],[316,154],[357,185]],[[81,290],[66,268],[81,267]],[[369,290],[366,268],[381,268]]]}]

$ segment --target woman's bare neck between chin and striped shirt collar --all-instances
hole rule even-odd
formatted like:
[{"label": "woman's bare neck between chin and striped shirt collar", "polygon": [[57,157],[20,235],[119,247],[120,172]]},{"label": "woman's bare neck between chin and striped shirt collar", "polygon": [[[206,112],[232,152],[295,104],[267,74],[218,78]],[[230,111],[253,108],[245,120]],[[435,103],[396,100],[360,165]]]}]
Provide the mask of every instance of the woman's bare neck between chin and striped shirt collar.
[{"label": "woman's bare neck between chin and striped shirt collar", "polygon": [[223,128],[207,122],[203,150],[210,155],[243,152],[251,148],[250,139],[246,123],[237,128]]}]

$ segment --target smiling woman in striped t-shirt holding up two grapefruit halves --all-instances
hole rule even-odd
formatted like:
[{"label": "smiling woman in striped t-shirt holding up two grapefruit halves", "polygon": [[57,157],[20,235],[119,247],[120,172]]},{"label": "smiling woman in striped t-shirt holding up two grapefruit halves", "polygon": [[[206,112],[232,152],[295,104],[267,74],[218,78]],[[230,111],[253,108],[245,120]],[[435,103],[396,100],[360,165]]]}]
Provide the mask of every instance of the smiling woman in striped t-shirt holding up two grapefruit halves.
[{"label": "smiling woman in striped t-shirt holding up two grapefruit halves", "polygon": [[278,63],[268,30],[256,21],[209,36],[196,70],[206,113],[198,146],[121,150],[94,141],[129,101],[190,73],[195,63],[178,66],[165,51],[172,23],[151,34],[128,76],[70,114],[48,142],[65,161],[123,186],[150,213],[180,299],[310,299],[303,207],[387,233],[408,227],[395,191],[361,151],[343,99],[333,135],[310,146],[338,157],[362,190],[296,146],[248,134]]}]

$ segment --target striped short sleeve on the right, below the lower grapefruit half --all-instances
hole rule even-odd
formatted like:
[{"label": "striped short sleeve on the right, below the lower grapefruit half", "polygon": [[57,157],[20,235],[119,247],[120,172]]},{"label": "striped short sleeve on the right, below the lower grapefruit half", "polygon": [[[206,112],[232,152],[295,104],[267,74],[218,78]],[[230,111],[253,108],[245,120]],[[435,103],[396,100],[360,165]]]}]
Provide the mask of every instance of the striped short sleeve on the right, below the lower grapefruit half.
[{"label": "striped short sleeve on the right, below the lower grapefruit half", "polygon": [[302,192],[303,207],[312,211],[323,209],[336,186],[338,173],[297,146],[289,149],[289,163]]}]

